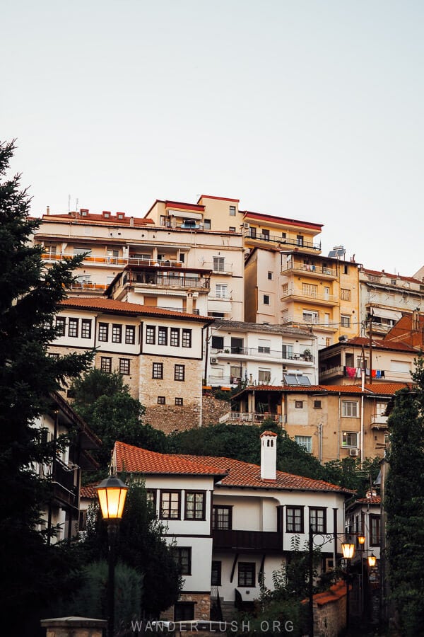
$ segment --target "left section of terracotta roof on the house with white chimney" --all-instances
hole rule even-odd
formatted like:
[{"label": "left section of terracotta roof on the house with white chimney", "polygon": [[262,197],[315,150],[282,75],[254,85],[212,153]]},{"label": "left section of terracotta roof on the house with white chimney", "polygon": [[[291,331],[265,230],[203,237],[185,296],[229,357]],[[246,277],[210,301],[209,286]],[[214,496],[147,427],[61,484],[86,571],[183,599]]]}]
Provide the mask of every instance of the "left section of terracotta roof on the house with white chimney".
[{"label": "left section of terracotta roof on the house with white chimney", "polygon": [[117,471],[142,474],[178,474],[185,476],[223,476],[225,470],[180,455],[158,454],[124,442],[115,442]]}]

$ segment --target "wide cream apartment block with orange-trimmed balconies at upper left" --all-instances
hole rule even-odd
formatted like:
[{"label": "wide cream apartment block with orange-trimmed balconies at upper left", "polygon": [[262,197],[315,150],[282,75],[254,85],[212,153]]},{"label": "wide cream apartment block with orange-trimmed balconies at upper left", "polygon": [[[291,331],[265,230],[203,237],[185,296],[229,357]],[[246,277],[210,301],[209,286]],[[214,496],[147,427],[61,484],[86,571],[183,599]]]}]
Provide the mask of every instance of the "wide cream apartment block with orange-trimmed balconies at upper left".
[{"label": "wide cream apartment block with orange-trimmed balconies at upper left", "polygon": [[[164,205],[168,212],[172,207],[175,214],[189,214],[177,210],[189,205]],[[168,226],[159,215],[156,225],[151,217],[126,217],[123,212],[92,214],[81,209],[78,213],[43,215],[35,243],[42,244],[47,263],[85,255],[73,294],[103,294],[126,270],[131,272],[136,302],[187,311],[187,304],[193,301],[194,309],[202,314],[244,319],[240,232],[213,232],[204,224],[189,223],[189,219]],[[187,295],[191,300],[187,301]]]}]

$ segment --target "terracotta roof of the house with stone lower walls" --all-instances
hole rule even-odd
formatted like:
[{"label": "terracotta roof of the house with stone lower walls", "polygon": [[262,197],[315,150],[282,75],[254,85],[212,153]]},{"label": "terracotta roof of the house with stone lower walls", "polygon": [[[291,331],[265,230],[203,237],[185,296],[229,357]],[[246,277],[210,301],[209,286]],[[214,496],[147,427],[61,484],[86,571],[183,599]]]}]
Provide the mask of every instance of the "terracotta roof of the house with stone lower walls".
[{"label": "terracotta roof of the house with stone lower walls", "polygon": [[137,303],[127,303],[125,301],[114,301],[113,299],[102,299],[99,297],[68,297],[61,302],[64,307],[73,307],[81,309],[90,309],[94,311],[102,310],[111,314],[137,314],[143,316],[163,316],[176,319],[189,319],[201,323],[205,321],[212,322],[213,319],[207,316],[199,316],[199,314],[185,314],[172,310],[165,310],[159,307],[149,305],[139,305]]}]

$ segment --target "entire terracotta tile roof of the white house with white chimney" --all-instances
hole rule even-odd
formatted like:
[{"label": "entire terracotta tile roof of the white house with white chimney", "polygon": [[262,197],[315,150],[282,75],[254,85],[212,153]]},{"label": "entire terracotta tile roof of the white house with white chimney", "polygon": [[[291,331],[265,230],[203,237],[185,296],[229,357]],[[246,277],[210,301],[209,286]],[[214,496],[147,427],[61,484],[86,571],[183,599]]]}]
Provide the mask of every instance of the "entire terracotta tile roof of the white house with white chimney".
[{"label": "entire terracotta tile roof of the white house with white chimney", "polygon": [[259,465],[232,458],[158,454],[119,441],[115,443],[114,454],[118,472],[219,476],[221,480],[218,486],[223,487],[322,491],[350,495],[354,493],[352,490],[322,480],[286,474],[283,471],[276,472],[276,480],[263,480]]}]

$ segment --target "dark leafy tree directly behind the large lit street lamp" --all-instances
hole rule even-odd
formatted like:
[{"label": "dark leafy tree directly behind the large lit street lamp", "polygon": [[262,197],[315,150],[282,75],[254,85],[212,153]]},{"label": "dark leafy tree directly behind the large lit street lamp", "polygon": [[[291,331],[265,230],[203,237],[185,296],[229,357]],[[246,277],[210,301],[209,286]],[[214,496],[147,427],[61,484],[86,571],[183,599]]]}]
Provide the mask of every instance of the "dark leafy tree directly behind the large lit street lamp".
[{"label": "dark leafy tree directly behind the large lit street lamp", "polygon": [[[117,558],[143,575],[143,612],[158,614],[175,604],[182,580],[172,557],[170,546],[163,537],[165,527],[148,503],[142,484],[129,483],[122,522],[117,534]],[[97,507],[88,521],[86,559],[95,561],[107,557],[106,524]],[[158,576],[160,574],[160,576]],[[141,614],[141,609],[140,609]]]}]

